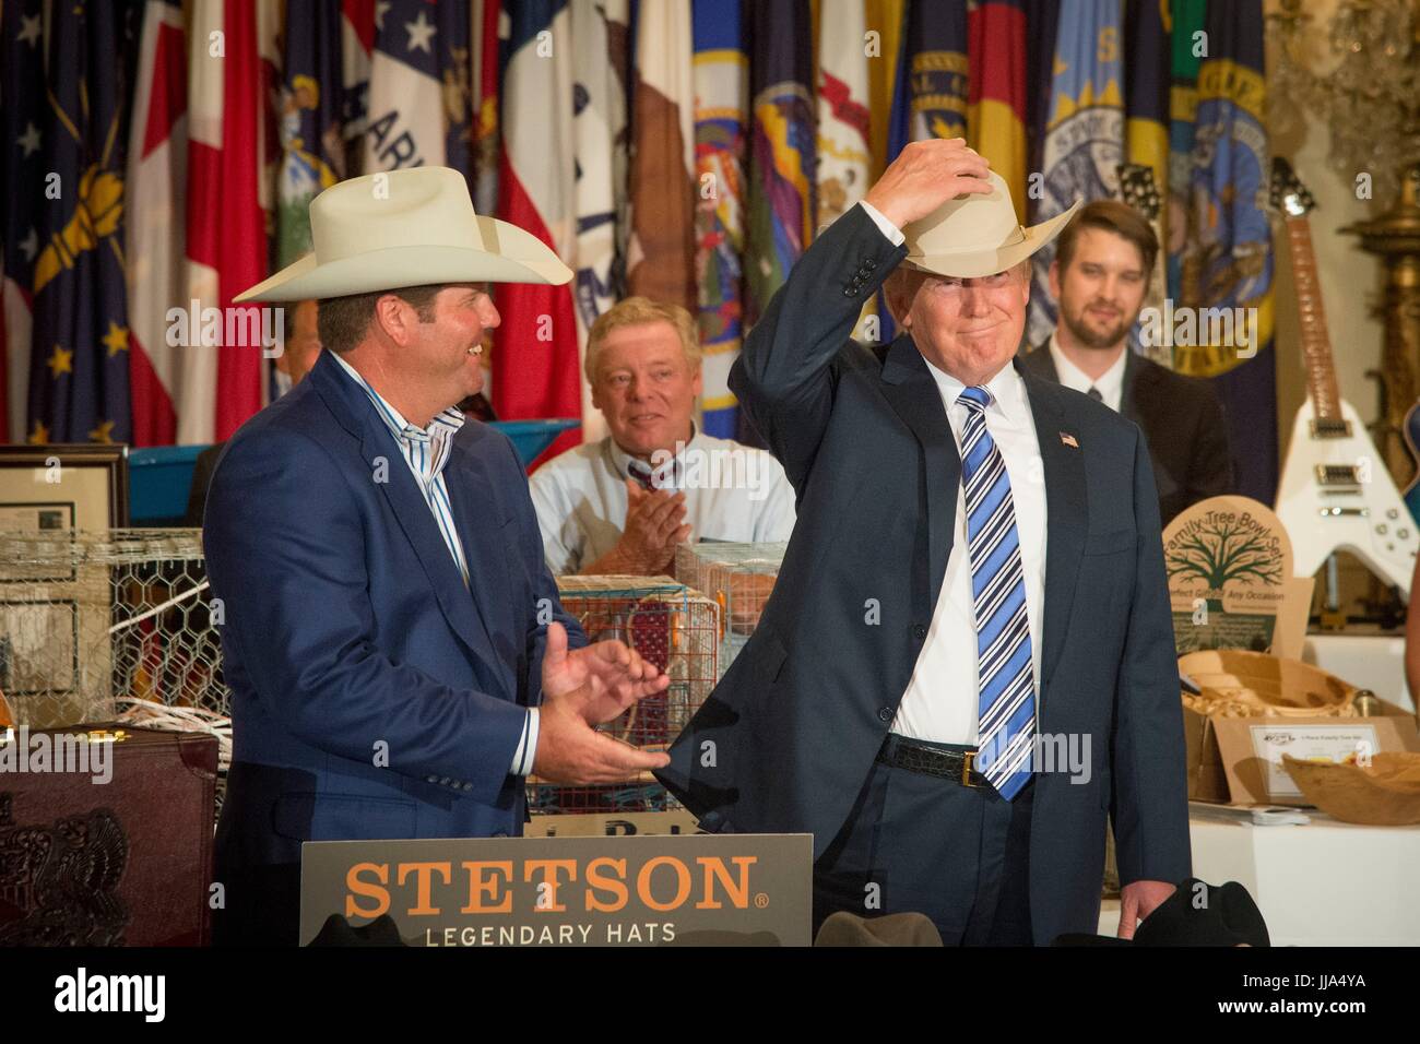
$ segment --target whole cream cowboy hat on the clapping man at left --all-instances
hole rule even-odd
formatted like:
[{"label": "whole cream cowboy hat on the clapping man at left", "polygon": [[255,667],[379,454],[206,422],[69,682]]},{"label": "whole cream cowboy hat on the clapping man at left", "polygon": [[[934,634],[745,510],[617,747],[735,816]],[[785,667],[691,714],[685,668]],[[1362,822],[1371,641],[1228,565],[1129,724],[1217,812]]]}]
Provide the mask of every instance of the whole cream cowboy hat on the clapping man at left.
[{"label": "whole cream cowboy hat on the clapping man at left", "polygon": [[304,301],[432,283],[551,283],[572,270],[537,236],[473,212],[447,166],[351,178],[311,200],[310,254],[234,301]]}]

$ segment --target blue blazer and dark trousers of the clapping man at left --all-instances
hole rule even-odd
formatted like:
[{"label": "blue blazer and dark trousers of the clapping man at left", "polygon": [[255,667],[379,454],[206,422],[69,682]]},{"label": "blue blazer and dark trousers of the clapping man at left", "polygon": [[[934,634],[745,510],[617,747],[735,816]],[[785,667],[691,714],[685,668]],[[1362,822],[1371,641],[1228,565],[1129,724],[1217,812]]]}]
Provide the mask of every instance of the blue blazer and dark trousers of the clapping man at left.
[{"label": "blue blazer and dark trousers of the clapping man at left", "polygon": [[507,436],[467,422],[443,474],[469,587],[328,352],[217,463],[203,543],[231,689],[217,830],[229,942],[295,942],[302,841],[523,832],[524,781],[508,770],[541,699],[540,605],[586,639],[542,562]]}]

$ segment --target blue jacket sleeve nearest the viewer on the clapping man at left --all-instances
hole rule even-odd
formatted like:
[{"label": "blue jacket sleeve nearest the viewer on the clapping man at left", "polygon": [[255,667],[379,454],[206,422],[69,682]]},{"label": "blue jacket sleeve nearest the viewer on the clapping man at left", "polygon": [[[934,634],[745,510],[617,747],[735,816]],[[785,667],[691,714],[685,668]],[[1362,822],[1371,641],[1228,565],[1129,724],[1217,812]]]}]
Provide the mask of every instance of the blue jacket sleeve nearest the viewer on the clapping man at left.
[{"label": "blue jacket sleeve nearest the viewer on the clapping man at left", "polygon": [[527,710],[385,656],[358,503],[318,443],[239,435],[212,483],[203,544],[223,646],[266,713],[318,750],[372,763],[383,743],[393,771],[497,798]]}]

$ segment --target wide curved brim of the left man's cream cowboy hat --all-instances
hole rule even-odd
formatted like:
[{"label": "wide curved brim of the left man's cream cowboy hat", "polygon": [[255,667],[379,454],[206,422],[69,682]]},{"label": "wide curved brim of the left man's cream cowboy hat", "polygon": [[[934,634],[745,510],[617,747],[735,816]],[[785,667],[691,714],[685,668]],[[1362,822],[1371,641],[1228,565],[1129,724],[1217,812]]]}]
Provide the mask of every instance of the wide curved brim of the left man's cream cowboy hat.
[{"label": "wide curved brim of the left man's cream cowboy hat", "polygon": [[496,217],[479,217],[491,249],[399,246],[321,264],[315,254],[288,264],[233,301],[305,301],[371,294],[437,283],[541,283],[562,286],[572,270],[531,233]]}]

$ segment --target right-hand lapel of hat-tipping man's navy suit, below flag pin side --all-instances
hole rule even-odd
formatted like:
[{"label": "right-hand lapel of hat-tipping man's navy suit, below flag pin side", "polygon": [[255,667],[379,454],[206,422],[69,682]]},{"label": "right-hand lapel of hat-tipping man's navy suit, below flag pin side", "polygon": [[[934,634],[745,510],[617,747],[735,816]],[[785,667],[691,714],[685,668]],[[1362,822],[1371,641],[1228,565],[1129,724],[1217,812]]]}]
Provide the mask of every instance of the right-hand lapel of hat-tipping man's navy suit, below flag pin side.
[{"label": "right-hand lapel of hat-tipping man's navy suit, below flag pin side", "polygon": [[1065,416],[1058,385],[1025,372],[1025,393],[1035,419],[1035,437],[1041,445],[1045,470],[1045,619],[1041,625],[1041,682],[1048,683],[1065,645],[1071,605],[1079,580],[1081,554],[1089,530],[1089,503],[1085,490],[1085,446],[1078,443],[1076,426]]}]

